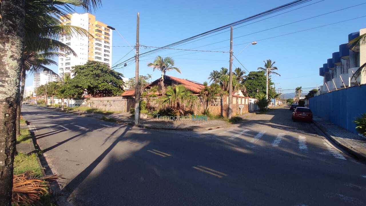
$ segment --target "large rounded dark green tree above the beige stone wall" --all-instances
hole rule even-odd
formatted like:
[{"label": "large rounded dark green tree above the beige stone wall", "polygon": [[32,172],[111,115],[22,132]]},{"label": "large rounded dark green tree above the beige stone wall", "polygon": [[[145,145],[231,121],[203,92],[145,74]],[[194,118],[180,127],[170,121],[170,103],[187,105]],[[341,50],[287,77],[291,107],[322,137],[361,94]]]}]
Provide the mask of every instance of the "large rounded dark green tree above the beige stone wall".
[{"label": "large rounded dark green tree above the beige stone wall", "polygon": [[72,84],[94,97],[117,96],[123,92],[123,74],[97,61],[72,67]]}]

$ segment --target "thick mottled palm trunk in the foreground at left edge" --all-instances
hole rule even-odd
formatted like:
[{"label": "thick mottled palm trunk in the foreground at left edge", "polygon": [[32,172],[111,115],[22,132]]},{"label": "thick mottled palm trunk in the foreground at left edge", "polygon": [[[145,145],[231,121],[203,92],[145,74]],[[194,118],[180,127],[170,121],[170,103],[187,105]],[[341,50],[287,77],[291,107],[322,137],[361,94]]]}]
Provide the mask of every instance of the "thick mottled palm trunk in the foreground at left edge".
[{"label": "thick mottled palm trunk in the foreground at left edge", "polygon": [[25,0],[2,0],[0,23],[0,202],[11,206],[16,107],[25,38]]}]

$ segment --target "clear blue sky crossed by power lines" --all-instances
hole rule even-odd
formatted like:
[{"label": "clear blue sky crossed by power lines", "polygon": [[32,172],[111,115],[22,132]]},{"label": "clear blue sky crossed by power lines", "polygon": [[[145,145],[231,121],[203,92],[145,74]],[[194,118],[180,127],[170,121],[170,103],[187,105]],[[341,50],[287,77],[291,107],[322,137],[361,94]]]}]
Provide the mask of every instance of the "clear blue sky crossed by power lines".
[{"label": "clear blue sky crossed by power lines", "polygon": [[[134,45],[136,38],[136,14],[139,12],[140,44],[160,47],[216,27],[223,26],[227,23],[246,18],[259,12],[269,10],[279,5],[289,3],[290,1],[291,0],[103,0],[102,7],[92,13],[96,15],[97,20],[115,27],[129,44]],[[320,2],[315,3],[318,1]],[[339,10],[341,8],[365,3],[365,1],[313,0],[306,4],[311,3],[315,4],[274,18],[234,29],[233,36],[235,38],[245,34],[258,32],[286,23]],[[302,4],[300,6],[306,4]],[[366,4],[363,4],[332,14],[267,30],[265,32],[235,38],[234,45],[360,17],[365,15],[365,8]],[[82,13],[83,11],[78,10],[78,12]],[[263,60],[265,59],[272,59],[272,61],[276,61],[275,65],[279,68],[278,73],[281,74],[281,77],[273,77],[273,81],[275,83],[279,83],[276,84],[276,88],[281,87],[283,89],[292,89],[299,86],[307,88],[315,87],[317,84],[322,85],[322,77],[319,76],[319,67],[321,67],[323,63],[326,63],[328,58],[332,57],[333,52],[339,50],[340,44],[347,43],[349,33],[356,32],[366,26],[364,23],[365,19],[366,18],[363,17],[305,32],[258,41],[257,45],[250,45],[241,52],[237,58],[249,71],[255,71],[257,70],[257,67],[262,67],[264,64]],[[227,40],[197,49],[211,50],[226,47],[217,49],[217,51],[229,51],[229,35],[230,32],[225,32],[200,41],[182,45],[177,48],[192,49],[202,45]],[[234,55],[238,54],[246,45],[247,44],[234,46]],[[131,50],[129,47],[117,47],[128,46],[128,44],[116,32],[113,32],[113,46],[112,64]],[[140,48],[140,53],[146,51],[149,51],[149,49]],[[146,66],[147,62],[152,62],[156,55],[163,57],[171,56],[175,59],[176,66],[178,66],[182,71],[182,74],[179,74],[176,71],[171,71],[168,72],[167,75],[187,78],[198,82],[208,81],[207,78],[212,70],[219,70],[221,67],[229,67],[228,53],[193,53],[194,52],[192,51],[180,52],[177,50],[165,50],[149,57],[143,57],[140,59],[140,74],[152,74],[153,79],[160,76],[158,71],[153,72],[151,68]],[[133,55],[133,52],[131,52],[124,58],[124,60],[132,57]],[[242,66],[234,59],[233,67]],[[52,69],[57,71],[57,67],[52,67]],[[134,77],[135,64],[131,63],[127,67],[117,71],[123,73],[127,78]],[[26,85],[31,85],[32,81],[33,76],[29,75],[27,77]]]}]

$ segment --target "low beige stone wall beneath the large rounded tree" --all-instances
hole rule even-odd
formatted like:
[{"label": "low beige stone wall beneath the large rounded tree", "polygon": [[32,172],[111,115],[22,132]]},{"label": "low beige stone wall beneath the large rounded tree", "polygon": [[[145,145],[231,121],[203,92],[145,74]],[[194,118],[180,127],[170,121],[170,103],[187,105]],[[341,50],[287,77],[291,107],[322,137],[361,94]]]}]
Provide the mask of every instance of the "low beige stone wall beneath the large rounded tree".
[{"label": "low beige stone wall beneath the large rounded tree", "polygon": [[90,98],[87,101],[87,106],[103,111],[127,111],[127,99],[122,96]]}]

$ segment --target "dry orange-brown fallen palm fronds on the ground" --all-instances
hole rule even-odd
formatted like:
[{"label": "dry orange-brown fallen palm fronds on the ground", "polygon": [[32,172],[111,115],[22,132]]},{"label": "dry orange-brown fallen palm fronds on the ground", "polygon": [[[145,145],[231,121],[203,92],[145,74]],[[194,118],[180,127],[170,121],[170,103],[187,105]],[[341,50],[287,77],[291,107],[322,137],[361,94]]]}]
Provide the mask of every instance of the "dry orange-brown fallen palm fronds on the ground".
[{"label": "dry orange-brown fallen palm fronds on the ground", "polygon": [[36,177],[30,172],[14,175],[12,203],[17,206],[32,205],[48,193],[49,183],[60,178],[60,175]]}]

